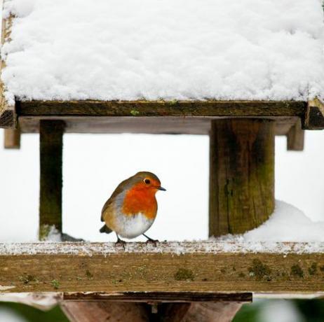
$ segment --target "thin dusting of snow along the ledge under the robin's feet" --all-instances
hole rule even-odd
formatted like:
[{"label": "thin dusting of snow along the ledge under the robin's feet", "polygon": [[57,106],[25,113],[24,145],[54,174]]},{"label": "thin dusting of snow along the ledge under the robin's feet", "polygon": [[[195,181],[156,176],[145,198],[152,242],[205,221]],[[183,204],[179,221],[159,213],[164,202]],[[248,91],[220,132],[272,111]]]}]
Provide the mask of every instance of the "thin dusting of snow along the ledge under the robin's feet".
[{"label": "thin dusting of snow along the ledge under the robin's feet", "polygon": [[24,243],[0,244],[0,255],[111,255],[116,253],[324,253],[324,243],[248,242],[240,241],[170,241],[156,246],[130,242],[123,246],[114,243]]}]

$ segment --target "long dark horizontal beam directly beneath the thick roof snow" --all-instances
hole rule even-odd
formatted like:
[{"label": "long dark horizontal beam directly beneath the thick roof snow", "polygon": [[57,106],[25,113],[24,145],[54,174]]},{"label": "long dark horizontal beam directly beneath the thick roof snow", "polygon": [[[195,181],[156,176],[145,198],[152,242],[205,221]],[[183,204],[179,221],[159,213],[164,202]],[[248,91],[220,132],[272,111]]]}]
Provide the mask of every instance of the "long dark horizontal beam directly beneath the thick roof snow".
[{"label": "long dark horizontal beam directly beneath the thick roof snow", "polygon": [[22,101],[19,116],[303,116],[295,101]]}]

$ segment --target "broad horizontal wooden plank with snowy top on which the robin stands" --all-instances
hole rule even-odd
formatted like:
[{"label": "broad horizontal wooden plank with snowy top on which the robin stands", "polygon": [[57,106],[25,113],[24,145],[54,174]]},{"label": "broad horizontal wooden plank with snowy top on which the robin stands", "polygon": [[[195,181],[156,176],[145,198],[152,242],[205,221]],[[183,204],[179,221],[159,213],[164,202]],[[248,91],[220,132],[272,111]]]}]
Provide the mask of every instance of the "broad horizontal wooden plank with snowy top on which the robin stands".
[{"label": "broad horizontal wooden plank with snowy top on which the robin stands", "polygon": [[0,262],[4,293],[252,292],[293,296],[324,290],[324,244],[314,243],[128,243],[125,249],[113,243],[0,244]]}]

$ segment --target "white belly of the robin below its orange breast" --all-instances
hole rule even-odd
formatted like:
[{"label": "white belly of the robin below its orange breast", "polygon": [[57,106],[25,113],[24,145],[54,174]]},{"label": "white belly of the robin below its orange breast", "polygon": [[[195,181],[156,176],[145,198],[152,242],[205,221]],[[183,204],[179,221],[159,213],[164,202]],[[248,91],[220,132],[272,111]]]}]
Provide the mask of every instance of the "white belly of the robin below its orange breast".
[{"label": "white belly of the robin below its orange breast", "polygon": [[124,238],[135,238],[146,232],[154,222],[154,219],[148,219],[143,214],[131,216],[117,216],[116,233]]}]

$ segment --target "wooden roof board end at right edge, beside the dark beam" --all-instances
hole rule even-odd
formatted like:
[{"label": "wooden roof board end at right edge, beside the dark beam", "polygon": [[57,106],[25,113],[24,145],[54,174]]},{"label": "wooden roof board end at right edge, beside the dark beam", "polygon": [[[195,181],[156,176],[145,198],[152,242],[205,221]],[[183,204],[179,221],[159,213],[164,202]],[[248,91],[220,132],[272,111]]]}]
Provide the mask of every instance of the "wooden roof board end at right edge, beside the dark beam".
[{"label": "wooden roof board end at right edge, beside the dark beam", "polygon": [[304,130],[324,129],[324,104],[320,99],[308,102],[302,125]]}]

